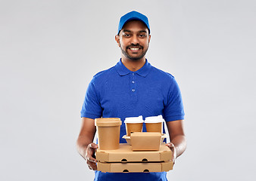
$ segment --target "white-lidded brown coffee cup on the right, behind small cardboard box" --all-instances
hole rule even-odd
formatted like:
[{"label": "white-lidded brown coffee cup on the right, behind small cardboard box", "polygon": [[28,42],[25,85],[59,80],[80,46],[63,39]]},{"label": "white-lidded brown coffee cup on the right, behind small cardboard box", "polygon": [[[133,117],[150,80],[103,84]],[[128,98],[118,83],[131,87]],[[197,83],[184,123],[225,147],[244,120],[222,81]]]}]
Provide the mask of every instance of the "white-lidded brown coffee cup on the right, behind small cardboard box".
[{"label": "white-lidded brown coffee cup on the right, behind small cardboard box", "polygon": [[163,122],[164,118],[162,115],[145,118],[145,127],[147,132],[163,133]]}]

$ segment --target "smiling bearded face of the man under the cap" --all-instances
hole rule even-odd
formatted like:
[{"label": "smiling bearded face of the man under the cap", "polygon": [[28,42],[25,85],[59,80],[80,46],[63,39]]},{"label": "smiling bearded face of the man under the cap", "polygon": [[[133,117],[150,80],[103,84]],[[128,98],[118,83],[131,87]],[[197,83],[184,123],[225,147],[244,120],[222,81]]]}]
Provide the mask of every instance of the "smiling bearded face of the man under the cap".
[{"label": "smiling bearded face of the man under the cap", "polygon": [[119,35],[116,35],[116,41],[123,56],[133,61],[145,57],[150,38],[147,26],[139,20],[125,23]]}]

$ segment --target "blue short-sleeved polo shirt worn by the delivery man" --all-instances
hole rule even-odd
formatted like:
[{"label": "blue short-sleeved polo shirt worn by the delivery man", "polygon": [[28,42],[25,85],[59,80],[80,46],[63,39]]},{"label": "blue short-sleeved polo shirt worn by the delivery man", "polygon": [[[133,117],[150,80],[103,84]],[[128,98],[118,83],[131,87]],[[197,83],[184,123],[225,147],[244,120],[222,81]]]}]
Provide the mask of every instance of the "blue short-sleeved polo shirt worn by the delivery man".
[{"label": "blue short-sleeved polo shirt worn by the delivery man", "polygon": [[[89,83],[81,110],[85,118],[120,118],[120,143],[126,143],[122,137],[126,134],[126,117],[142,115],[163,115],[165,121],[184,119],[183,101],[180,88],[173,75],[145,65],[132,72],[121,60],[116,66],[98,72]],[[143,125],[143,131],[145,125]],[[101,173],[95,171],[95,180],[167,180],[162,173]]]}]

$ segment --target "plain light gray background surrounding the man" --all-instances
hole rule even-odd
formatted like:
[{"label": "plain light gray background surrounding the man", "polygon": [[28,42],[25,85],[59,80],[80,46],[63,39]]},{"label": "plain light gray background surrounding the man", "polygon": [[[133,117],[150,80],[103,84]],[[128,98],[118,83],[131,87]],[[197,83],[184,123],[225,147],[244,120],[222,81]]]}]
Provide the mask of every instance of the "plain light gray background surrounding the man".
[{"label": "plain light gray background surrounding the man", "polygon": [[120,16],[146,14],[147,58],[176,77],[188,148],[170,180],[252,180],[256,2],[0,3],[0,179],[92,180],[76,152],[80,109],[96,72],[114,66]]}]

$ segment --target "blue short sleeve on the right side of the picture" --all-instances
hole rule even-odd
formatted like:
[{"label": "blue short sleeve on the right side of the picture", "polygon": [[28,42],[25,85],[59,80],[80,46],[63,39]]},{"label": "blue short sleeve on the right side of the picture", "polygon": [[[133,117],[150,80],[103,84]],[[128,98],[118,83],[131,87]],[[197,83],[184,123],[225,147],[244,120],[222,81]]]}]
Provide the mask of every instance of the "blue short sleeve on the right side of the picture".
[{"label": "blue short sleeve on the right side of the picture", "polygon": [[176,121],[184,119],[183,100],[180,93],[180,87],[175,78],[170,85],[170,90],[167,95],[167,104],[164,105],[164,120]]}]

